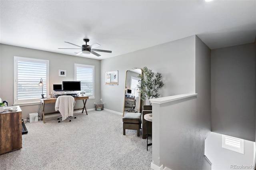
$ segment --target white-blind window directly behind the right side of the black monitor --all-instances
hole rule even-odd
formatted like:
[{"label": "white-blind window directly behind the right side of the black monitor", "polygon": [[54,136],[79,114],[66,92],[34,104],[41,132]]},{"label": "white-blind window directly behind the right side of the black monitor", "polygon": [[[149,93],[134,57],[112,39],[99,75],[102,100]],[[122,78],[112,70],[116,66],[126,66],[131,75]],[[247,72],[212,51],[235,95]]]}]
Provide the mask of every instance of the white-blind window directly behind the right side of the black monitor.
[{"label": "white-blind window directly behind the right side of the black monitor", "polygon": [[75,63],[75,81],[81,81],[81,91],[94,97],[94,65]]}]

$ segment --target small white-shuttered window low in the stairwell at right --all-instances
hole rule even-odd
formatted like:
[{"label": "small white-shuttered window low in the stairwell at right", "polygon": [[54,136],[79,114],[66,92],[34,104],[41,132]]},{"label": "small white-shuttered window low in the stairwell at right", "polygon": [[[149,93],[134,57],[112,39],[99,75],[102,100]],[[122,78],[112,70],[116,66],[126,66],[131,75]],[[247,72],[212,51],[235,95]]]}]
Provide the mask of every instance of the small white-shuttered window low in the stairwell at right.
[{"label": "small white-shuttered window low in the stairwell at right", "polygon": [[222,134],[222,148],[244,154],[244,139]]}]

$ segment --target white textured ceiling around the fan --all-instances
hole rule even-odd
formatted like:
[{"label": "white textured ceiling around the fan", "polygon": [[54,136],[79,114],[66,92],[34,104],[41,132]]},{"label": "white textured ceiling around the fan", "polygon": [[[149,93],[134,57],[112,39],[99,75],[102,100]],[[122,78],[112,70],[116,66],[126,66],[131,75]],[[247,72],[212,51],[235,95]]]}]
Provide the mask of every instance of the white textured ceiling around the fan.
[{"label": "white textured ceiling around the fan", "polygon": [[0,0],[0,43],[75,55],[99,43],[105,59],[197,35],[210,49],[252,43],[256,0]]}]

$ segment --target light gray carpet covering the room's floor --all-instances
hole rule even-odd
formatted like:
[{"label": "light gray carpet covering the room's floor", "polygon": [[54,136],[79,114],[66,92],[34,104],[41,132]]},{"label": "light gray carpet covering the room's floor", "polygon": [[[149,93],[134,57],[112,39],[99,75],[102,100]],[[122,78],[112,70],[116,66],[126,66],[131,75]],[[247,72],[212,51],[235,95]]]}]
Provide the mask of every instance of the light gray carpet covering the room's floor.
[{"label": "light gray carpet covering the room's floor", "polygon": [[[69,122],[26,123],[22,148],[0,155],[1,170],[150,170],[152,146],[136,130],[123,135],[122,115],[88,111]],[[149,137],[149,142],[151,138]]]}]

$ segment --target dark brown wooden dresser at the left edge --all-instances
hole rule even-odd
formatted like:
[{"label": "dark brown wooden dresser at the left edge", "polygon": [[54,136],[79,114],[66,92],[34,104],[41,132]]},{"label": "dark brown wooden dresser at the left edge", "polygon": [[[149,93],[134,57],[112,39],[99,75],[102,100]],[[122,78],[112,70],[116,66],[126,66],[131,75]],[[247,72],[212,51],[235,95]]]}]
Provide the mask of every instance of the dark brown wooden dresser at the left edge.
[{"label": "dark brown wooden dresser at the left edge", "polygon": [[0,113],[0,154],[22,148],[22,111]]}]

